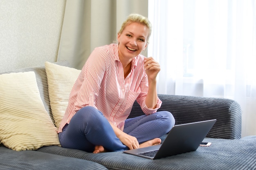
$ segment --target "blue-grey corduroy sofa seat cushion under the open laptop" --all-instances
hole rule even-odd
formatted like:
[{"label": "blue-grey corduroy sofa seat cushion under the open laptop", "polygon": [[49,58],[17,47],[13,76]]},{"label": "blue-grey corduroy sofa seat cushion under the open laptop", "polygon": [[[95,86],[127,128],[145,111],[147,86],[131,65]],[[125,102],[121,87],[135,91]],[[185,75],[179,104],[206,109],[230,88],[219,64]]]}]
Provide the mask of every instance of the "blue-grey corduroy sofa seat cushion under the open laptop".
[{"label": "blue-grey corduroy sofa seat cushion under the open laptop", "polygon": [[211,142],[211,146],[200,146],[194,152],[155,160],[128,155],[123,152],[93,154],[81,150],[61,148],[58,146],[46,146],[39,148],[38,151],[94,161],[106,166],[108,169],[256,169],[256,136],[244,137],[242,139],[206,138],[204,141]]}]

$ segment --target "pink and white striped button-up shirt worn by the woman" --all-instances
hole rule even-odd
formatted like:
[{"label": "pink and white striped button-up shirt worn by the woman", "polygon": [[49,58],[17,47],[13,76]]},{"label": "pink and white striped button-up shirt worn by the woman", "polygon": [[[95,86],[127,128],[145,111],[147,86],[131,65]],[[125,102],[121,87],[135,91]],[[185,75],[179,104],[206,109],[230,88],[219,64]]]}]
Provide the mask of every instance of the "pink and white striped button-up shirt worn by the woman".
[{"label": "pink and white striped button-up shirt worn by the woman", "polygon": [[61,132],[74,114],[85,106],[94,106],[110,123],[124,130],[124,121],[130,115],[136,99],[146,115],[155,113],[160,108],[160,99],[155,109],[146,106],[147,92],[148,77],[144,70],[143,55],[132,59],[131,71],[124,79],[118,45],[97,47],[92,51],[72,88],[58,132]]}]

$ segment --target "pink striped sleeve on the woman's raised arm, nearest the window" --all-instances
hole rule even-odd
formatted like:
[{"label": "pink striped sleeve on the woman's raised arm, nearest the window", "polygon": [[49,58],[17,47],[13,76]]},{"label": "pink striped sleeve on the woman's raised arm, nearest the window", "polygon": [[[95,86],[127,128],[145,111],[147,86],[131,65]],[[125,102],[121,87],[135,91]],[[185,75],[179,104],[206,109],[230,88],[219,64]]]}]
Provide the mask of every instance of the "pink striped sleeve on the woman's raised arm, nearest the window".
[{"label": "pink striped sleeve on the woman's raised arm, nearest the window", "polygon": [[162,101],[157,97],[157,104],[156,108],[148,108],[146,105],[146,96],[148,93],[148,76],[146,75],[146,72],[144,72],[144,76],[141,80],[140,83],[140,89],[141,93],[137,97],[137,102],[141,106],[141,110],[146,114],[146,115],[151,115],[153,113],[156,113],[157,110],[161,107]]}]

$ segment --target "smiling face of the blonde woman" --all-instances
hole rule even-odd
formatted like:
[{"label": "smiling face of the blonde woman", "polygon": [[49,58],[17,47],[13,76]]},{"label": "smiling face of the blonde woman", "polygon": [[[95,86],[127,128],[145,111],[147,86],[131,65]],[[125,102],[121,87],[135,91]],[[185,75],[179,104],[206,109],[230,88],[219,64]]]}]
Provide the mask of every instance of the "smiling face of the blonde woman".
[{"label": "smiling face of the blonde woman", "polygon": [[118,33],[118,52],[121,61],[131,61],[147,46],[148,27],[138,22],[131,22]]}]

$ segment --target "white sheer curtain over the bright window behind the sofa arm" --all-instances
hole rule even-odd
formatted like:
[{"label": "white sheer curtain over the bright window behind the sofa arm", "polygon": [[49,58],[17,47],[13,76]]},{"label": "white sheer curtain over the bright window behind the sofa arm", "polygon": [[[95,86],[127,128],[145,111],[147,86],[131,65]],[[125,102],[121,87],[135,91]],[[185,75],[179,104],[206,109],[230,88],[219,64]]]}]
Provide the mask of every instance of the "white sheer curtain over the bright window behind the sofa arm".
[{"label": "white sheer curtain over the bright window behind the sofa arm", "polygon": [[255,0],[149,0],[148,8],[158,93],[234,99],[242,136],[256,135]]}]

